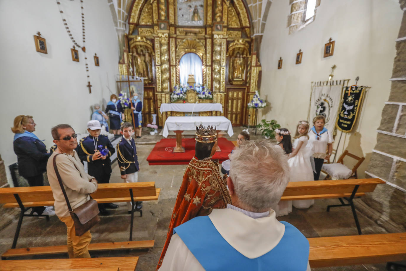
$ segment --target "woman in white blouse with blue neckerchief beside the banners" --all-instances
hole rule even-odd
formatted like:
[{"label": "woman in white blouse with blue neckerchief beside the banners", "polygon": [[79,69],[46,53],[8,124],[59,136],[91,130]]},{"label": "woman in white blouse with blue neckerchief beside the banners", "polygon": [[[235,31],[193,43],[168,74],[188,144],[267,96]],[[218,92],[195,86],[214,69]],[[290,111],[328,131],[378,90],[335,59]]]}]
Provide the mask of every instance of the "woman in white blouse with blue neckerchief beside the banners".
[{"label": "woman in white blouse with blue neckerchief beside the banners", "polygon": [[313,119],[313,127],[309,131],[309,147],[314,151],[314,165],[315,172],[313,171],[314,180],[320,178],[320,171],[324,163],[324,159],[330,160],[331,152],[333,151],[333,137],[331,132],[324,128],[326,119],[323,116],[316,116]]}]

